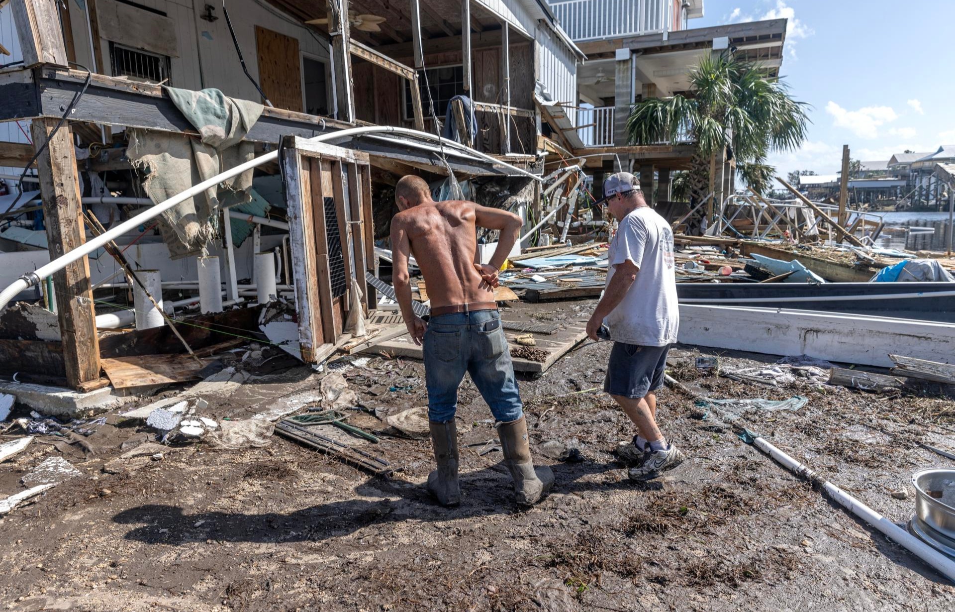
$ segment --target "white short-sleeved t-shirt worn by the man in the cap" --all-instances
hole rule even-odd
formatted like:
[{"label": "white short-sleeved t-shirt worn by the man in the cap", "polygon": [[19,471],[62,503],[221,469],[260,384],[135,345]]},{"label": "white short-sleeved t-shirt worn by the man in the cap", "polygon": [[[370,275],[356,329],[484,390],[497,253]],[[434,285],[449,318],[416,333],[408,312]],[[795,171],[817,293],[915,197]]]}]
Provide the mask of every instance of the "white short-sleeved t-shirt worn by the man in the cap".
[{"label": "white short-sleeved t-shirt worn by the man in the cap", "polygon": [[606,285],[615,266],[630,260],[640,271],[624,299],[604,323],[617,342],[664,347],[676,342],[680,308],[673,271],[673,232],[649,206],[630,212],[617,230],[607,254]]}]

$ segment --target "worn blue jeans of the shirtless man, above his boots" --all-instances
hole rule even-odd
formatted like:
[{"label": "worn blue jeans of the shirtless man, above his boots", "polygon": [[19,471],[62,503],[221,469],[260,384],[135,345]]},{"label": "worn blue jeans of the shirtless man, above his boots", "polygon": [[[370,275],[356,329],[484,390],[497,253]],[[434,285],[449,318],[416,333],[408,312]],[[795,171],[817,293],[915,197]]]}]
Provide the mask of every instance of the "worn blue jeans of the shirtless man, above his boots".
[{"label": "worn blue jeans of the shirtless man, above his boots", "polygon": [[457,312],[432,317],[424,334],[424,375],[428,418],[447,423],[455,418],[457,386],[471,373],[481,397],[499,421],[523,415],[511,351],[497,310]]}]

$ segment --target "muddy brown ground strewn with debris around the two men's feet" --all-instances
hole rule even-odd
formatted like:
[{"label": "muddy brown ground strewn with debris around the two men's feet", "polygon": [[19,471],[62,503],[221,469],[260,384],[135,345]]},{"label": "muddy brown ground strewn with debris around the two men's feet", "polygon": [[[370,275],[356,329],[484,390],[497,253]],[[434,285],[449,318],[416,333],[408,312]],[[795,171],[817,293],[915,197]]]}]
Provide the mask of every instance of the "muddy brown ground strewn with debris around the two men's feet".
[{"label": "muddy brown ground strewn with debris around the two men's feet", "polygon": [[[578,317],[592,303],[548,305]],[[506,316],[506,315],[505,315]],[[602,393],[609,344],[570,353],[522,380],[532,442],[572,441],[583,462],[551,463],[540,505],[515,507],[490,412],[460,390],[463,501],[436,506],[422,483],[430,443],[384,435],[403,471],[372,478],[308,448],[214,451],[169,447],[132,472],[103,465],[148,436],[104,425],[77,445],[34,442],[0,467],[2,491],[43,458],[66,452],[82,472],[0,519],[0,606],[10,610],[951,610],[955,588],[848,516],[730,431],[694,418],[693,399],[659,394],[664,432],[688,455],[665,477],[635,484],[611,453],[633,430]],[[914,512],[911,474],[952,462],[919,442],[955,446],[955,402],[881,395],[798,380],[774,388],[701,375],[711,350],[671,352],[672,375],[711,397],[809,398],[798,412],[744,420],[886,517]],[[775,358],[723,354],[721,367]],[[271,362],[275,365],[275,361]],[[370,411],[426,403],[420,363],[375,357],[337,369]],[[245,418],[320,374],[266,373],[228,397],[219,418]],[[278,399],[277,399],[278,398]],[[354,423],[387,432],[368,413]],[[130,442],[132,440],[132,442]],[[466,446],[474,445],[474,446]],[[65,447],[65,448],[63,448]],[[58,450],[59,449],[59,450]],[[907,499],[892,492],[908,490]]]}]

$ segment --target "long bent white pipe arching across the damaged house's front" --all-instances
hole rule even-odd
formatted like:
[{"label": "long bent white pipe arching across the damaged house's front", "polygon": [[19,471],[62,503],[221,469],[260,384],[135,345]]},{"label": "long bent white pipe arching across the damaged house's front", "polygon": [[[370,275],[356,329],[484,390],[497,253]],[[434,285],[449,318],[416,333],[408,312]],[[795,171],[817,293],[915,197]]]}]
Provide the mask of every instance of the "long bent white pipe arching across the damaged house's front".
[{"label": "long bent white pipe arching across the damaged house's front", "polygon": [[[412,136],[416,138],[424,138],[428,140],[438,141],[449,147],[454,147],[458,150],[464,150],[471,155],[477,156],[478,158],[484,159],[485,161],[489,161],[495,165],[508,168],[514,171],[516,174],[524,175],[535,180],[542,180],[541,177],[535,174],[531,174],[530,172],[527,172],[526,170],[521,170],[520,168],[513,166],[509,163],[500,161],[499,159],[492,158],[491,156],[485,155],[479,151],[475,151],[474,149],[466,147],[458,142],[455,142],[454,140],[438,137],[438,136],[435,136],[434,134],[428,134],[427,132],[418,132],[417,130],[411,130],[408,128],[398,128],[398,127],[393,127],[388,125],[381,125],[381,126],[374,125],[374,126],[366,126],[366,127],[360,127],[360,128],[349,128],[347,130],[341,130],[340,132],[333,132],[330,134],[323,134],[321,136],[313,137],[313,138],[310,138],[310,140],[313,142],[325,142],[327,140],[332,140],[332,139],[357,137],[363,134],[372,134],[372,133],[402,134],[402,135]],[[23,277],[11,283],[11,285],[9,285],[6,289],[4,289],[3,291],[0,291],[0,311],[2,311],[4,308],[7,307],[10,301],[13,299],[13,296],[18,294],[20,291],[23,291],[24,289],[31,287],[32,285],[37,285],[40,279],[46,278],[50,276],[51,274],[53,274],[53,272],[57,272],[63,269],[64,267],[66,267],[67,265],[73,264],[76,260],[86,257],[87,255],[95,251],[97,248],[103,246],[104,244],[109,243],[112,240],[115,240],[117,237],[122,236],[126,232],[132,231],[133,229],[142,225],[144,222],[148,222],[152,220],[153,218],[159,216],[161,213],[169,210],[173,206],[180,204],[182,201],[188,200],[196,195],[201,194],[206,189],[209,189],[211,187],[218,185],[219,183],[223,182],[223,180],[237,177],[241,175],[242,173],[244,173],[246,170],[251,170],[252,168],[256,168],[258,166],[261,166],[265,163],[269,163],[271,161],[276,161],[278,160],[278,158],[279,158],[279,152],[272,151],[270,153],[266,153],[264,156],[260,156],[254,159],[249,159],[248,161],[241,163],[233,168],[229,168],[228,170],[225,170],[224,172],[212,177],[211,179],[205,179],[202,182],[193,185],[189,189],[186,189],[185,191],[180,192],[179,194],[176,194],[172,198],[160,201],[155,206],[152,206],[151,208],[148,208],[142,211],[135,217],[132,217],[131,219],[126,220],[125,222],[121,222],[117,224],[117,226],[105,231],[104,233],[87,241],[81,246],[74,248],[69,253],[65,253],[61,255],[60,257],[56,258],[49,264],[41,265],[38,269],[32,272],[26,273]]]}]

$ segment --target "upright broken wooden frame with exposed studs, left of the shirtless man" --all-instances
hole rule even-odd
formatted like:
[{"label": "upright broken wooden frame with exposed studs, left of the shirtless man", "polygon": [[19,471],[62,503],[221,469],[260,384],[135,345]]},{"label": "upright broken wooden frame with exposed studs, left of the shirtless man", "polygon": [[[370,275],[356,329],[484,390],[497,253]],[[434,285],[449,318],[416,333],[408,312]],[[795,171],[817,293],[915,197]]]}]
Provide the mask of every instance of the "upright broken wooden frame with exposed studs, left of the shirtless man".
[{"label": "upright broken wooden frame with exposed studs, left of the shirtless man", "polygon": [[301,357],[320,363],[350,338],[352,279],[363,310],[376,304],[365,282],[374,270],[371,165],[367,154],[300,137],[284,138],[281,152]]}]

